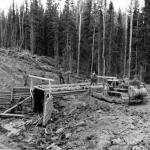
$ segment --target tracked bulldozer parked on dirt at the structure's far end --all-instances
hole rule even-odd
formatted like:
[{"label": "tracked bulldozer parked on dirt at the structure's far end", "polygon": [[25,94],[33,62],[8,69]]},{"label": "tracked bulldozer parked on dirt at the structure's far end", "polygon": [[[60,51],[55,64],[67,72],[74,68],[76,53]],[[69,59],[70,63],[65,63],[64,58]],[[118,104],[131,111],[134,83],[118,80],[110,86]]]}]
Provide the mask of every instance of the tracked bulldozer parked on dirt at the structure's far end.
[{"label": "tracked bulldozer parked on dirt at the structure's far end", "polygon": [[133,79],[105,78],[102,93],[93,92],[92,96],[113,103],[138,104],[145,102],[147,89],[143,82]]}]

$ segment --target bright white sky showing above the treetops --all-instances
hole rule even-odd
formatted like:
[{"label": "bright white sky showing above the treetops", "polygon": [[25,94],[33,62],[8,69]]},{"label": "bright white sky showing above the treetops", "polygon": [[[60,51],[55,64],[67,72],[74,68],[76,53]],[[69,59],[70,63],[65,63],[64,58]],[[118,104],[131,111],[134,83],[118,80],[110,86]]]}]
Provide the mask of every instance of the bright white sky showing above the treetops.
[{"label": "bright white sky showing above the treetops", "polygon": [[[0,0],[0,9],[5,10],[7,12],[12,1],[13,0]],[[43,5],[46,6],[46,0],[41,0],[41,1],[42,1]],[[128,8],[131,0],[111,0],[111,1],[113,1],[113,3],[114,3],[115,10],[118,10],[120,8],[122,11],[125,11],[126,8]],[[15,3],[17,5],[20,5],[23,2],[24,2],[24,0],[15,0]],[[139,3],[140,3],[140,6],[143,6],[144,0],[139,0]]]}]

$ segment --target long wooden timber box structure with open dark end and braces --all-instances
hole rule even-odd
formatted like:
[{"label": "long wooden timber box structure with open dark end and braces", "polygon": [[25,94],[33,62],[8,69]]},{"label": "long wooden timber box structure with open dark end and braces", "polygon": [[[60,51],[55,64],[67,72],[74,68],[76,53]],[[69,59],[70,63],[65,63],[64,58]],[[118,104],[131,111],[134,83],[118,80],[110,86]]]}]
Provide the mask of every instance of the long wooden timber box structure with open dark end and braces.
[{"label": "long wooden timber box structure with open dark end and braces", "polygon": [[[43,125],[45,126],[51,119],[53,111],[53,97],[79,94],[87,91],[90,87],[99,88],[102,84],[91,86],[90,83],[74,84],[52,84],[53,79],[29,75],[31,79],[30,87],[14,87],[11,90],[0,92],[0,106],[8,108],[0,116],[24,117],[22,114],[11,114],[10,111],[18,105],[30,106],[33,112],[43,114]],[[34,85],[35,80],[42,80],[48,84]]]}]

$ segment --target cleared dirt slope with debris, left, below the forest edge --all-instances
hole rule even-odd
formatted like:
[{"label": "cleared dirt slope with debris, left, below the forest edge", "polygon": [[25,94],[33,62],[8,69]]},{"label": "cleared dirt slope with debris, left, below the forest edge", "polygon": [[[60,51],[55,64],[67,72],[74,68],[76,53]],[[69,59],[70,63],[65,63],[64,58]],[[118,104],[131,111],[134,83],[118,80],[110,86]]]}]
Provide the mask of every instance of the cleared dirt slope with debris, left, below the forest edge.
[{"label": "cleared dirt slope with debris, left, below the forest edge", "polygon": [[[29,52],[16,52],[15,50],[0,49],[0,89],[6,90],[11,86],[12,80],[16,86],[23,86],[23,74],[53,78],[58,82],[55,60],[50,57],[31,55]],[[30,81],[28,81],[30,84]]]}]

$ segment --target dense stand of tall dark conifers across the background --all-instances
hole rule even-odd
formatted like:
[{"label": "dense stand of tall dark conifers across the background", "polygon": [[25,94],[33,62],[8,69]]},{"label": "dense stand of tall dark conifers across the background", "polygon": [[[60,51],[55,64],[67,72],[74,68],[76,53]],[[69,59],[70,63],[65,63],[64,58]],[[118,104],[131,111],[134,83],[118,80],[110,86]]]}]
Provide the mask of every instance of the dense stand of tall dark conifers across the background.
[{"label": "dense stand of tall dark conifers across the background", "polygon": [[126,12],[107,0],[14,0],[0,11],[0,47],[49,56],[77,74],[138,77],[150,71],[150,1],[131,0]]}]

